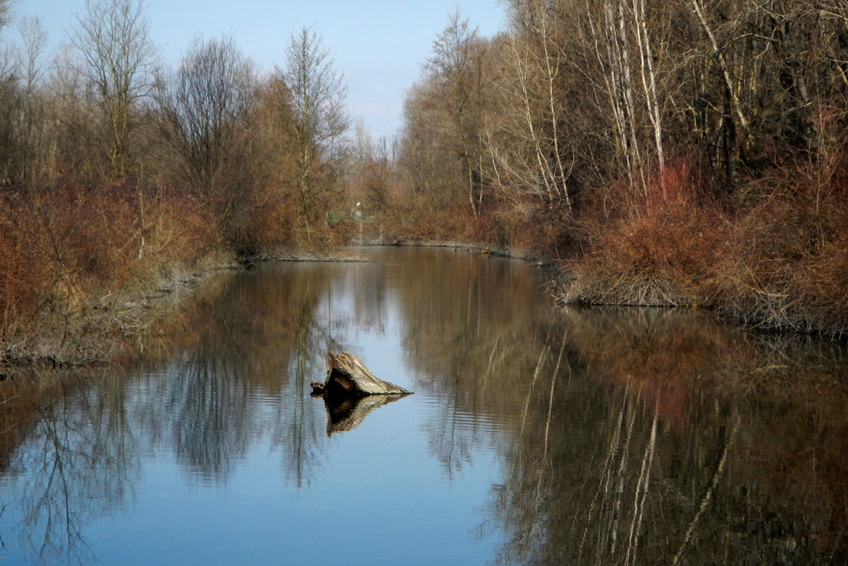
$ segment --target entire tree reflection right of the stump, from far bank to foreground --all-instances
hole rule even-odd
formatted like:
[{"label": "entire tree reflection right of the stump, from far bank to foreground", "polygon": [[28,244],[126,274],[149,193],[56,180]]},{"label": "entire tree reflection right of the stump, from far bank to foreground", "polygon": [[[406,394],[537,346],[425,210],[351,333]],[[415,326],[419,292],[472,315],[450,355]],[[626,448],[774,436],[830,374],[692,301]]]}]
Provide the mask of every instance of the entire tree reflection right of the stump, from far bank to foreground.
[{"label": "entire tree reflection right of the stump, from far bank to foreground", "polygon": [[444,469],[504,458],[500,563],[845,561],[843,348],[691,311],[546,313],[522,264],[442,262],[400,268],[404,349]]}]

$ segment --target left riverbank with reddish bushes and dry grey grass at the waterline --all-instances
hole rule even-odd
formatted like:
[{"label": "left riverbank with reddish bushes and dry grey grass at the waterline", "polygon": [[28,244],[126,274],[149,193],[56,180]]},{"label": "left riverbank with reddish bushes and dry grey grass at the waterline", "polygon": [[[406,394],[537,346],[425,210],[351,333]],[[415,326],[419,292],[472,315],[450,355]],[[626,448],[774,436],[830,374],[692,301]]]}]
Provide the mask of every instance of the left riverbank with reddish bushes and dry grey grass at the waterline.
[{"label": "left riverbank with reddish bushes and dry grey grass at the waterline", "polygon": [[246,226],[267,234],[243,245],[175,189],[7,188],[0,203],[0,373],[109,363],[209,275],[287,244],[260,218]]}]

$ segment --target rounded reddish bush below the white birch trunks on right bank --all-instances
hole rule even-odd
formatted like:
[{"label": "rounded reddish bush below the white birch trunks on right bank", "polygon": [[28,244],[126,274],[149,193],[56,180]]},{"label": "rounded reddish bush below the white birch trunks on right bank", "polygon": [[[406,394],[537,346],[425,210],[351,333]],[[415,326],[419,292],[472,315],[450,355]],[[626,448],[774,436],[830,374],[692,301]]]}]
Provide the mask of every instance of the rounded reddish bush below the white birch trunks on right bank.
[{"label": "rounded reddish bush below the white birch trunks on right bank", "polygon": [[680,159],[644,191],[613,184],[578,223],[585,253],[566,262],[566,302],[697,305],[727,238],[717,203]]}]

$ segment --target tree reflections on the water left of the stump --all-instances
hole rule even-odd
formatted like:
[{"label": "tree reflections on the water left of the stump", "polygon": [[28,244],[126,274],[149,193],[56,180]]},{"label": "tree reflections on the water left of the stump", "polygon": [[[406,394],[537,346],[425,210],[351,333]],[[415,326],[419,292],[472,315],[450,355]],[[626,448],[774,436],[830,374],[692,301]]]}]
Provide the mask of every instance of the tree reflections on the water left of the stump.
[{"label": "tree reflections on the water left of the stump", "polygon": [[287,478],[308,483],[326,413],[304,392],[336,346],[315,315],[337,275],[322,264],[287,267],[300,271],[287,285],[269,267],[209,286],[159,344],[145,343],[142,369],[126,378],[81,375],[5,397],[15,402],[2,415],[15,433],[3,436],[2,458],[14,500],[3,503],[14,510],[3,524],[16,526],[0,539],[13,537],[33,562],[90,560],[86,524],[131,501],[141,453],[172,452],[200,480],[223,482],[265,437]]}]

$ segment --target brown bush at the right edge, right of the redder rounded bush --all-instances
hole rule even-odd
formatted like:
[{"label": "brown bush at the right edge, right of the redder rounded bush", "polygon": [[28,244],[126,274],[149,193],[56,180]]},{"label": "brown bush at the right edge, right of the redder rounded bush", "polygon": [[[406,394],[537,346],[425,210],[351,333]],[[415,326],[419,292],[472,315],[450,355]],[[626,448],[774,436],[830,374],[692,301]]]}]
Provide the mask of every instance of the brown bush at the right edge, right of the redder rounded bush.
[{"label": "brown bush at the right edge, right of the redder rounded bush", "polygon": [[816,169],[775,171],[754,188],[755,203],[735,219],[732,250],[717,265],[717,307],[767,328],[844,335],[845,177],[822,180]]}]

